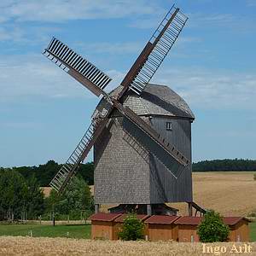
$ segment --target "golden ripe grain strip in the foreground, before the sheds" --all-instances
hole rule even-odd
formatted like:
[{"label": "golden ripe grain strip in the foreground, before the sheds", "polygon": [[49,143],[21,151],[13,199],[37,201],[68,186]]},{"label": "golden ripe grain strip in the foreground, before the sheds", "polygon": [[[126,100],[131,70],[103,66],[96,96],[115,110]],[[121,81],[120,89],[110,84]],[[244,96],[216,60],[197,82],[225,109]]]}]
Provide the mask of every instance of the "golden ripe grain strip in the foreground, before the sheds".
[{"label": "golden ripe grain strip in the foreground, before the sheds", "polygon": [[[210,245],[210,244],[209,244]],[[226,247],[227,253],[233,243],[212,243],[212,247]],[[247,243],[248,245],[248,243]],[[256,255],[256,243],[250,243],[252,253],[244,255]],[[243,247],[243,243],[236,243],[236,249]],[[177,243],[177,242],[149,242],[149,241],[91,241],[76,240],[70,238],[34,238],[21,236],[1,236],[0,255],[214,255],[202,253],[201,243]],[[239,254],[241,255],[241,254]]]}]

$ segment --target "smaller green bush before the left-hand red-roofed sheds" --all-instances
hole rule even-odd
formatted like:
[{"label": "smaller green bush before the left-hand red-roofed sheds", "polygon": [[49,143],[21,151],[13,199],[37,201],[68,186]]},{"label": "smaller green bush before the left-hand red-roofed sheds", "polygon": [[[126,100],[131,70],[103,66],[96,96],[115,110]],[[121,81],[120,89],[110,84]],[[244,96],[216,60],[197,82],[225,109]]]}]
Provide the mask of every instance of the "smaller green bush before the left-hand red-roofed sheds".
[{"label": "smaller green bush before the left-hand red-roofed sheds", "polygon": [[135,213],[130,213],[125,218],[122,230],[119,232],[119,238],[125,241],[144,238],[144,224]]}]

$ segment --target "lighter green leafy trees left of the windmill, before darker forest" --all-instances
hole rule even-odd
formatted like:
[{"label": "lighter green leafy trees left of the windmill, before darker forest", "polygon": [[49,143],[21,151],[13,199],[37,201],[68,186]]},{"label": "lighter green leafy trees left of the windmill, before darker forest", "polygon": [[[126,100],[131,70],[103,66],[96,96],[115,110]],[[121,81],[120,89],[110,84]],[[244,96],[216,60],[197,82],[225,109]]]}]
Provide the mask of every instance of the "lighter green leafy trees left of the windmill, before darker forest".
[{"label": "lighter green leafy trees left of the windmill, before darker forest", "polygon": [[74,177],[62,195],[51,190],[48,197],[37,177],[24,177],[13,169],[0,168],[0,220],[88,218],[94,202],[83,177]]}]

